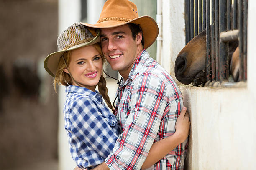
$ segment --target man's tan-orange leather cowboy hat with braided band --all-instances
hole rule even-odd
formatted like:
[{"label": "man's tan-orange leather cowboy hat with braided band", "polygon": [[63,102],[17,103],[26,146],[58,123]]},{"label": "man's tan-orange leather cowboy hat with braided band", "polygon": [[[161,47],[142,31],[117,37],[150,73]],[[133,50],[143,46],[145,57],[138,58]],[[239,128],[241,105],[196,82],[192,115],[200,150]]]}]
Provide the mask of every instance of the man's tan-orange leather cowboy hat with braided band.
[{"label": "man's tan-orange leather cowboy hat with braided band", "polygon": [[138,10],[133,2],[128,0],[108,0],[105,2],[96,24],[82,23],[95,36],[93,28],[113,28],[127,23],[134,23],[141,26],[144,36],[144,48],[150,47],[158,35],[156,21],[150,16],[138,16]]}]

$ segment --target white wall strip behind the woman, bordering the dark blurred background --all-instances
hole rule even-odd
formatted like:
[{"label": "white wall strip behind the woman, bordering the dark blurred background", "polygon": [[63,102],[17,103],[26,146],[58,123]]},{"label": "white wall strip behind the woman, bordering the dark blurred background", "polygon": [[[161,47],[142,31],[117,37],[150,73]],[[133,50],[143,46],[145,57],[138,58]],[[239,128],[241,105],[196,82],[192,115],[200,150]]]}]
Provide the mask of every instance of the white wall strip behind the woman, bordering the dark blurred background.
[{"label": "white wall strip behind the woman, bordering the dark blurred background", "polygon": [[[58,1],[58,35],[64,31],[69,25],[80,22],[81,18],[80,0],[59,0]],[[56,37],[57,42],[57,37]],[[65,88],[60,86],[58,89],[59,101],[59,125],[58,125],[58,169],[72,170],[76,166],[74,163],[67,140],[67,133],[64,129],[63,107],[66,100]]]}]

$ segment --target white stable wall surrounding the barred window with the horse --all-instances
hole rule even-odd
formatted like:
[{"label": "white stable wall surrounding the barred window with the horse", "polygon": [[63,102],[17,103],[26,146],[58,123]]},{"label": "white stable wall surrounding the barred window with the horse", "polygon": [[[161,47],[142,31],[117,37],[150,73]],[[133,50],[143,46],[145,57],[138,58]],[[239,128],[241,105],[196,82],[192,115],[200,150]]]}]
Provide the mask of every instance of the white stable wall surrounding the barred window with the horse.
[{"label": "white stable wall surrounding the barred window with the horse", "polygon": [[[182,11],[182,12],[181,12]],[[163,58],[174,76],[175,58],[185,44],[184,4],[163,0]],[[248,1],[248,80],[238,87],[180,85],[190,113],[191,133],[185,169],[255,169],[256,160],[256,1]]]}]

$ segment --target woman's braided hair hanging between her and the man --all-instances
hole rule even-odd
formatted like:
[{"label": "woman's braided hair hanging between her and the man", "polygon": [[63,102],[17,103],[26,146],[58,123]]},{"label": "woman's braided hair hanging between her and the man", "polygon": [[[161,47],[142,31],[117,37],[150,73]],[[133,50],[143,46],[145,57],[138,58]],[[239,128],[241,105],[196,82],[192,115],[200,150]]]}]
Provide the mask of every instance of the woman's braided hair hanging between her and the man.
[{"label": "woman's braided hair hanging between her and the man", "polygon": [[103,76],[103,74],[100,77],[100,81],[98,82],[98,90],[100,92],[100,94],[102,94],[102,97],[104,98],[105,102],[107,103],[108,107],[112,110],[112,112],[115,112],[115,109],[113,108],[113,106],[111,105],[111,102],[109,100],[109,96],[108,96],[108,88],[107,88],[107,82]]}]

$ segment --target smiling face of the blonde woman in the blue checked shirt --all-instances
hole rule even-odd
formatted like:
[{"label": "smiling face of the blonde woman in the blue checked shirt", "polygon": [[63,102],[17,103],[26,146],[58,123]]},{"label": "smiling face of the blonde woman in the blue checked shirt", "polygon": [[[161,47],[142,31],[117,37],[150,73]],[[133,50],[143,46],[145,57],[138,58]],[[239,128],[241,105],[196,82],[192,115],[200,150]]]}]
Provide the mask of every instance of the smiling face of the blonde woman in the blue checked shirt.
[{"label": "smiling face of the blonde woman in the blue checked shirt", "polygon": [[[92,45],[72,50],[70,53],[68,67],[74,80],[92,91],[95,91],[102,75],[102,65],[102,58]],[[64,72],[69,73],[67,69]],[[77,84],[72,80],[72,85]]]}]

